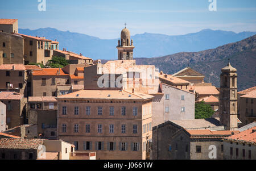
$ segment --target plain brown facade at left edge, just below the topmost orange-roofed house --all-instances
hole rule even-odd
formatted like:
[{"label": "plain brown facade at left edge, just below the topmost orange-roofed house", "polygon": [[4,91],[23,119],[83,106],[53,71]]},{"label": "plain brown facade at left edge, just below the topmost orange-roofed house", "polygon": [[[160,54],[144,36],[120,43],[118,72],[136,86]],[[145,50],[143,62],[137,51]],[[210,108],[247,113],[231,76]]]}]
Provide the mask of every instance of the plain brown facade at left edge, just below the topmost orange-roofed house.
[{"label": "plain brown facade at left edge, just below the topmost orange-roofed house", "polygon": [[24,38],[22,36],[0,32],[0,43],[3,64],[23,64]]}]

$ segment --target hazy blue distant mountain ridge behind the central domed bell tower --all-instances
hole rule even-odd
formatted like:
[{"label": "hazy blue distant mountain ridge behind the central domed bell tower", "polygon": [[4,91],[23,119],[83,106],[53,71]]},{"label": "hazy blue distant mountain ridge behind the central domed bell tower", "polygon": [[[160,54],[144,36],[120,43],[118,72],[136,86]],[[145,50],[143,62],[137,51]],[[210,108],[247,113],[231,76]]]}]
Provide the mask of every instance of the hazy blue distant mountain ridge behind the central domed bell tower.
[{"label": "hazy blue distant mountain ridge behind the central domed bell tower", "polygon": [[[121,31],[120,31],[121,32]],[[69,31],[59,31],[55,28],[39,28],[29,30],[19,28],[20,34],[46,37],[60,42],[60,49],[82,53],[92,59],[117,59],[117,39],[100,39],[98,37]],[[120,33],[117,33],[119,37]],[[178,52],[197,52],[216,48],[220,45],[240,41],[255,35],[256,32],[240,32],[205,29],[200,32],[169,36],[163,34],[137,34],[131,36],[134,40],[134,57],[158,57]]]}]

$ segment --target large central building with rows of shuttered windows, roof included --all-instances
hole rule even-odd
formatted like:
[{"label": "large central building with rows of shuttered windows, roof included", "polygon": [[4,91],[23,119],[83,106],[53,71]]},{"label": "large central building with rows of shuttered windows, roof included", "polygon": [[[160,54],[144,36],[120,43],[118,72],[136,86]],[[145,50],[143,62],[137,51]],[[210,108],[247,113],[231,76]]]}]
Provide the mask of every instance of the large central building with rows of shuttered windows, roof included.
[{"label": "large central building with rows of shuttered windows, roof included", "polygon": [[57,97],[58,139],[97,159],[149,159],[152,96],[80,90]]}]

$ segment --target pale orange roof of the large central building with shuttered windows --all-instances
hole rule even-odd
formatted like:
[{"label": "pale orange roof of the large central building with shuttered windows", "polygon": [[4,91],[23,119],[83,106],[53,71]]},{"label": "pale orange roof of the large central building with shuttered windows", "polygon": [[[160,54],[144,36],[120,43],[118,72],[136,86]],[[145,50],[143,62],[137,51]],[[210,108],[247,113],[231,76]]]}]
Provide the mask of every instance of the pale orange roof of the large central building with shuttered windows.
[{"label": "pale orange roof of the large central building with shuttered windows", "polygon": [[74,93],[60,95],[57,99],[148,99],[154,98],[148,94],[133,94],[125,90],[80,90]]}]

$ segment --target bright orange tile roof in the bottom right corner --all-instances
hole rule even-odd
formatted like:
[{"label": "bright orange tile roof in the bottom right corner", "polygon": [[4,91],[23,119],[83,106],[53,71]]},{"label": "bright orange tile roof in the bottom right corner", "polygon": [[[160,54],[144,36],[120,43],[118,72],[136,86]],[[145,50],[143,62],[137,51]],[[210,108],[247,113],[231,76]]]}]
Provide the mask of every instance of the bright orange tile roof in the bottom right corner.
[{"label": "bright orange tile roof in the bottom right corner", "polygon": [[229,136],[226,140],[256,144],[256,127],[251,127],[239,134]]}]

